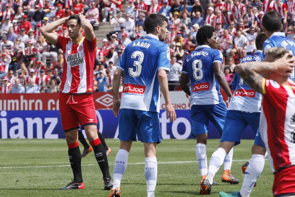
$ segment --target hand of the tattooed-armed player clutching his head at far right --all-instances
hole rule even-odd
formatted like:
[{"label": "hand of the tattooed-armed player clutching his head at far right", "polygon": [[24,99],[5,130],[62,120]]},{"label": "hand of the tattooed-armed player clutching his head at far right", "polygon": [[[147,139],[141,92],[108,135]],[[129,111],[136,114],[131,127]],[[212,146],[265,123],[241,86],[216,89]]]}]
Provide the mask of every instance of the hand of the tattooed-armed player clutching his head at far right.
[{"label": "hand of the tattooed-armed player clutching his head at far right", "polygon": [[295,57],[292,56],[291,58],[289,58],[288,57],[289,55],[291,54],[286,53],[283,57],[281,57],[280,59],[277,59],[274,62],[275,64],[274,72],[276,72],[279,75],[289,76],[294,71]]}]

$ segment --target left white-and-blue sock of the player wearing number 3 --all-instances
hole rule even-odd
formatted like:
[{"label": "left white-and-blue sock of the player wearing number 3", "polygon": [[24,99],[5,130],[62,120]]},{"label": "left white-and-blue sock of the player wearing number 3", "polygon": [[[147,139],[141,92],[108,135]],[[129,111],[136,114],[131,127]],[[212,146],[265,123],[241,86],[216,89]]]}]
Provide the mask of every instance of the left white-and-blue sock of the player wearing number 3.
[{"label": "left white-and-blue sock of the player wearing number 3", "polygon": [[123,174],[127,167],[128,155],[129,155],[128,151],[124,149],[119,149],[116,155],[114,173],[113,173],[114,185],[112,189],[120,187]]}]

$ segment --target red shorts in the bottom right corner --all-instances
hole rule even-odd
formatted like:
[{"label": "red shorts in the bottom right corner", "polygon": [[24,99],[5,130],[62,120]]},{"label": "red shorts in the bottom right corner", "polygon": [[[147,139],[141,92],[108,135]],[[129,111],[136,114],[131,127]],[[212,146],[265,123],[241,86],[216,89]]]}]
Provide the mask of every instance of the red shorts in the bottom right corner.
[{"label": "red shorts in the bottom right corner", "polygon": [[275,174],[273,195],[295,194],[295,166],[285,168]]}]

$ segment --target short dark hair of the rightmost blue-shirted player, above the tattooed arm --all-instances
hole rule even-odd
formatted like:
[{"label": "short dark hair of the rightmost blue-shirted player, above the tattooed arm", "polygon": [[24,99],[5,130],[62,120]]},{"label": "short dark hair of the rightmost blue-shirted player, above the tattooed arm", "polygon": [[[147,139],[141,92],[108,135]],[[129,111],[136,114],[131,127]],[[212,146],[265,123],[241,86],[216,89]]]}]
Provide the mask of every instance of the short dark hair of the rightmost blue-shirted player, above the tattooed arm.
[{"label": "short dark hair of the rightmost blue-shirted player, above the tattooed arm", "polygon": [[262,25],[269,32],[281,31],[282,18],[281,14],[276,11],[268,11],[262,18]]}]

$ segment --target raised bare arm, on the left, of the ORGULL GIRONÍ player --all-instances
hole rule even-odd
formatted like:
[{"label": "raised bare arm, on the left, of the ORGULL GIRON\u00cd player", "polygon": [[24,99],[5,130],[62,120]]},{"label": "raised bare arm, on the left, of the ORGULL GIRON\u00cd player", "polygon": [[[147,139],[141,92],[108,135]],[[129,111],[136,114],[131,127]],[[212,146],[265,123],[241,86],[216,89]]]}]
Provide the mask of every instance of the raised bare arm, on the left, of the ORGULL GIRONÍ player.
[{"label": "raised bare arm, on the left, of the ORGULL GIRON\u00cd player", "polygon": [[69,16],[47,24],[46,26],[44,26],[40,29],[41,34],[51,44],[55,45],[58,42],[58,36],[56,34],[52,33],[52,31],[55,30],[60,25],[66,23],[68,21],[68,18],[69,18]]}]

